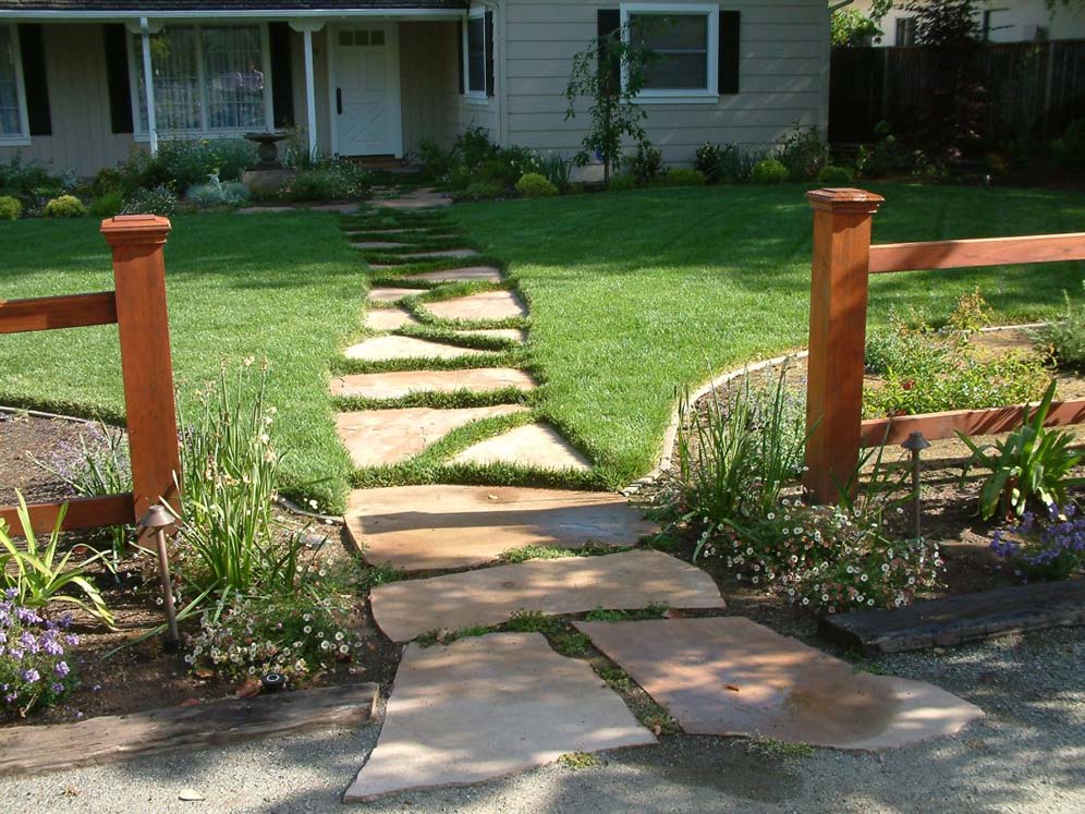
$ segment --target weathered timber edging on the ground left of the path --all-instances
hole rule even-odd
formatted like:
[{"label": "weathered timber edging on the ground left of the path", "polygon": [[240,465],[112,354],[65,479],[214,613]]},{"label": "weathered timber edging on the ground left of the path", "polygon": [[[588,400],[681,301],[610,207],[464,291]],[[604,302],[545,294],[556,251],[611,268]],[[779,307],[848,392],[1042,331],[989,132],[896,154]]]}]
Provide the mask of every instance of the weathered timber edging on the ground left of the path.
[{"label": "weathered timber edging on the ground left of the path", "polygon": [[376,684],[344,684],[78,724],[15,727],[0,731],[0,777],[200,750],[269,734],[355,727],[373,717],[377,695]]}]

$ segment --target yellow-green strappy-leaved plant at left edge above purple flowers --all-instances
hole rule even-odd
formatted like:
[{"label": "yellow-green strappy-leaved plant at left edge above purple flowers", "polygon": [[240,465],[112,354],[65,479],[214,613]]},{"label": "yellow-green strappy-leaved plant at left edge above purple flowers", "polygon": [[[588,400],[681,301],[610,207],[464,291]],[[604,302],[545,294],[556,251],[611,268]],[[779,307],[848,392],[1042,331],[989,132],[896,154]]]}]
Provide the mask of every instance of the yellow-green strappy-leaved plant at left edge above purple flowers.
[{"label": "yellow-green strappy-leaved plant at left edge above purple flowers", "polygon": [[[71,562],[74,548],[60,555],[60,530],[66,506],[60,510],[49,539],[39,545],[31,526],[26,500],[20,493],[16,497],[19,522],[25,538],[22,547],[15,545],[7,524],[0,521],[0,587],[8,598],[24,608],[34,609],[42,609],[53,603],[75,605],[112,628],[112,613],[106,607],[101,593],[87,579],[90,566],[102,560],[102,554],[94,551],[78,563]],[[108,563],[103,564],[108,567]]]}]

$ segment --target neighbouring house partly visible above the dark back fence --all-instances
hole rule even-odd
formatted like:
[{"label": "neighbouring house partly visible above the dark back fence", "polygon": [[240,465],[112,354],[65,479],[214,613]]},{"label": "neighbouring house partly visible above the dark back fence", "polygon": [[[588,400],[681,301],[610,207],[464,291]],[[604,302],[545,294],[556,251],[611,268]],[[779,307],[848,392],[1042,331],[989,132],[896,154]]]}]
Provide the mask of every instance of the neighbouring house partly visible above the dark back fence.
[{"label": "neighbouring house partly visible above the dark back fence", "polygon": [[[831,5],[840,7],[839,2]],[[864,15],[870,13],[870,0],[856,0],[848,4]],[[880,21],[881,37],[874,45],[915,45],[915,17],[903,2]],[[1048,39],[1085,39],[1085,4],[1057,3],[1049,8],[1047,0],[990,0],[980,2],[979,24],[988,42],[1033,42]]]}]

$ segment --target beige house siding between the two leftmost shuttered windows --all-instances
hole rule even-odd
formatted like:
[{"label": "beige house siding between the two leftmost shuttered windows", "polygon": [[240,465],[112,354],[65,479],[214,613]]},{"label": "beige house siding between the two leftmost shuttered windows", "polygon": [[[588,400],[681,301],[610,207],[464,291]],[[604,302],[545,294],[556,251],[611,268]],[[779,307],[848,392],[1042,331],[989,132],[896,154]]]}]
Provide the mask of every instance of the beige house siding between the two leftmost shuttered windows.
[{"label": "beige house siding between the two leftmost shuttered windows", "polygon": [[101,26],[46,25],[42,36],[52,135],[34,136],[25,147],[0,147],[0,161],[21,155],[81,175],[123,161],[134,142],[131,134],[112,132]]}]

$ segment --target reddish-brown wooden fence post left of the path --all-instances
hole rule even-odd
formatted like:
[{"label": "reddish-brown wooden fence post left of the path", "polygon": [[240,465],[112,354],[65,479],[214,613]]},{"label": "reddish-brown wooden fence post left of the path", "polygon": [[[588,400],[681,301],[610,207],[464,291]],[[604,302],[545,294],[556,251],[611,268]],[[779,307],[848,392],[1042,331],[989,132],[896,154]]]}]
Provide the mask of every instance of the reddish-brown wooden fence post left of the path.
[{"label": "reddish-brown wooden fence post left of the path", "polygon": [[101,233],[113,250],[137,522],[151,503],[163,499],[180,510],[174,476],[180,479],[181,462],[162,257],[169,231],[170,221],[154,215],[119,215],[101,222]]}]

